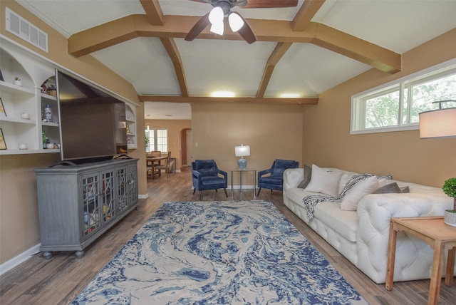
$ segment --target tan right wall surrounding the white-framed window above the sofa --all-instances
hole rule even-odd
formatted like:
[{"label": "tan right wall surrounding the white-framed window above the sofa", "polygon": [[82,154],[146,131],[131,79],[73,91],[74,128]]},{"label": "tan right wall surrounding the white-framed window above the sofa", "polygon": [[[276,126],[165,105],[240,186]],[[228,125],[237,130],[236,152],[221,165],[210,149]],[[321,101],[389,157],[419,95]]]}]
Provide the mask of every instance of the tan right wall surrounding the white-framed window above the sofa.
[{"label": "tan right wall surrounding the white-framed window above the sofa", "polygon": [[367,71],[304,106],[306,164],[390,174],[396,180],[442,187],[456,176],[456,138],[420,140],[419,130],[350,135],[351,95],[456,57],[456,30],[403,54],[403,71]]}]

